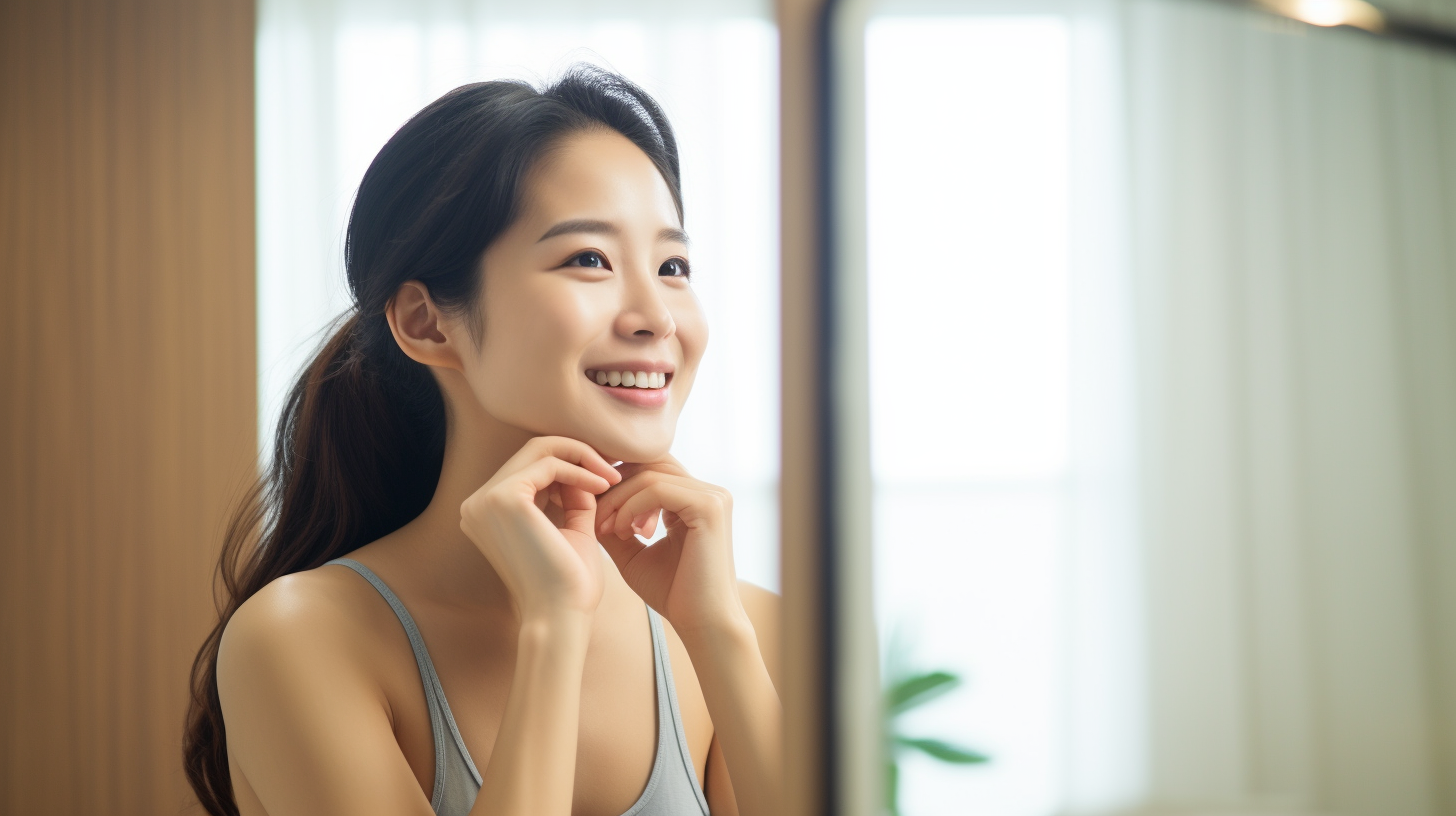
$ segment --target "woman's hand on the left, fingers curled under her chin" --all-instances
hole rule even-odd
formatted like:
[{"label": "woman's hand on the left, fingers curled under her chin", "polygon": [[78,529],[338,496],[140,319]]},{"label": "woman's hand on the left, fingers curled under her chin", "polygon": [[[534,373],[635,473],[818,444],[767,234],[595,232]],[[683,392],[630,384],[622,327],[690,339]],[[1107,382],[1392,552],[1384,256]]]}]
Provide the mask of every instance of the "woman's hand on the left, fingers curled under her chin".
[{"label": "woman's hand on the left, fingers curled under her chin", "polygon": [[[523,622],[597,611],[604,587],[597,495],[620,481],[591,446],[543,436],[460,504],[460,529],[501,576]],[[561,526],[547,517],[547,503],[562,509]]]}]

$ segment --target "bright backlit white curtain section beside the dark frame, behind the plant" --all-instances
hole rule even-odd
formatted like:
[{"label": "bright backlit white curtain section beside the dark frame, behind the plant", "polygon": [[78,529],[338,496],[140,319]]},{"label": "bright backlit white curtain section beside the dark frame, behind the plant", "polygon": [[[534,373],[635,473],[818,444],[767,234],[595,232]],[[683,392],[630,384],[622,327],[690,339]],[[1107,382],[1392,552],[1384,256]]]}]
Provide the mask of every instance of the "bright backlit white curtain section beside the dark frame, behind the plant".
[{"label": "bright backlit white curtain section beside the dark frame, behind the plant", "polygon": [[[904,813],[1050,815],[1142,780],[1131,294],[1115,34],[1066,4],[865,28],[869,408]],[[894,641],[900,641],[894,647]]]}]

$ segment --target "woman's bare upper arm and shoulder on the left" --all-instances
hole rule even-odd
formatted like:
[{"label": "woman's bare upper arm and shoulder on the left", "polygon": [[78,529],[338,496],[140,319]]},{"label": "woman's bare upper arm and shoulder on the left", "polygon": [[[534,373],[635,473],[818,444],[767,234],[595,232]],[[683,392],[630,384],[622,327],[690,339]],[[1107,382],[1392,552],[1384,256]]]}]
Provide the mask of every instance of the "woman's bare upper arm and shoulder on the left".
[{"label": "woman's bare upper arm and shoulder on the left", "polygon": [[430,816],[347,611],[298,576],[233,615],[217,657],[227,750],[268,816]]}]

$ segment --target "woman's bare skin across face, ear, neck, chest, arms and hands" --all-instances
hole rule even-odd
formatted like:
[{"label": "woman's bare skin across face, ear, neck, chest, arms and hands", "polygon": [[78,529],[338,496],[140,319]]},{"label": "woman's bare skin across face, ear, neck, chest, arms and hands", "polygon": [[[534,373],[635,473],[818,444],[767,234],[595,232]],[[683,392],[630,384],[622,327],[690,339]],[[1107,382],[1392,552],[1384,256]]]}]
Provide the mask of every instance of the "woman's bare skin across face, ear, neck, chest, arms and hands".
[{"label": "woman's bare skin across face, ear, neck, chest, arms and hands", "polygon": [[[593,130],[531,172],[521,217],[486,249],[479,344],[418,281],[390,302],[400,348],[446,398],[444,466],[418,519],[351,558],[425,637],[483,777],[472,816],[617,816],[638,800],[657,752],[644,600],[667,621],[713,815],[778,812],[778,596],[734,576],[728,493],[667,453],[708,342],[687,271],[655,166]],[[665,405],[585,374],[641,361],[671,372]],[[667,535],[646,546],[635,533],[658,517]],[[243,816],[431,813],[414,654],[351,570],[284,576],[243,603],[217,679]]]}]

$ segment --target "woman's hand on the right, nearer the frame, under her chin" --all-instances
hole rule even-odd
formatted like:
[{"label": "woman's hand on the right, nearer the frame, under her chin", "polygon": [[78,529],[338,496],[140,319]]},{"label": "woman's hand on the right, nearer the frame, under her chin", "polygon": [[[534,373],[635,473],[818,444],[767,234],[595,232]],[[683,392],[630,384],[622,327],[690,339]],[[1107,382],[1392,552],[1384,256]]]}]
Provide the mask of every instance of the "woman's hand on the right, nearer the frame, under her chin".
[{"label": "woman's hand on the right, nearer the frame, under her chin", "polygon": [[[747,624],[732,565],[732,495],[671,456],[620,471],[626,478],[597,497],[597,539],[628,586],[684,638]],[[667,536],[642,544],[636,536],[657,530],[660,511]]]}]

